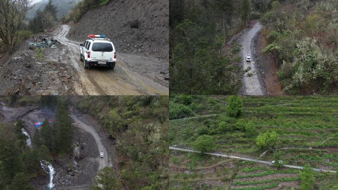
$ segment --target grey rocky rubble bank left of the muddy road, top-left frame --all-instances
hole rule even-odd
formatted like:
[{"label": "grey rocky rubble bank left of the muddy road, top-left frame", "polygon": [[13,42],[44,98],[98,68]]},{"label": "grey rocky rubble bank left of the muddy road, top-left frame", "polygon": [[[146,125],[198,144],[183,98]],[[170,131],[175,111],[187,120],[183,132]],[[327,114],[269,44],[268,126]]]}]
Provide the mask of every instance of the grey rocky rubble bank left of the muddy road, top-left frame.
[{"label": "grey rocky rubble bank left of the muddy road, top-left frame", "polygon": [[73,81],[77,79],[74,68],[47,58],[57,53],[57,48],[46,48],[41,52],[42,57],[38,57],[28,43],[21,46],[11,58],[0,63],[0,94],[74,94]]}]

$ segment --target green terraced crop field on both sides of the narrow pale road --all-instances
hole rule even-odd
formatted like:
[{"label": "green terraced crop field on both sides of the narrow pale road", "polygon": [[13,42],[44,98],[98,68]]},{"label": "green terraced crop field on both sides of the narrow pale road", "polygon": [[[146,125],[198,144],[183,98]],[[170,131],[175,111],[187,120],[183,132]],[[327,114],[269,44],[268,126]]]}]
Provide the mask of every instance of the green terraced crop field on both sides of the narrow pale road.
[{"label": "green terraced crop field on both sides of the narrow pale road", "polygon": [[[208,135],[215,142],[214,152],[272,161],[274,150],[263,155],[269,148],[257,146],[256,138],[274,131],[274,149],[279,149],[284,164],[338,169],[338,96],[242,97],[238,117],[227,115],[227,98],[170,97],[170,145],[192,148],[198,137]],[[176,120],[187,117],[192,118]],[[220,131],[223,121],[226,130]],[[290,168],[176,150],[170,151],[170,165],[171,189],[300,189],[300,171]],[[316,172],[316,187],[337,190],[337,176]]]}]

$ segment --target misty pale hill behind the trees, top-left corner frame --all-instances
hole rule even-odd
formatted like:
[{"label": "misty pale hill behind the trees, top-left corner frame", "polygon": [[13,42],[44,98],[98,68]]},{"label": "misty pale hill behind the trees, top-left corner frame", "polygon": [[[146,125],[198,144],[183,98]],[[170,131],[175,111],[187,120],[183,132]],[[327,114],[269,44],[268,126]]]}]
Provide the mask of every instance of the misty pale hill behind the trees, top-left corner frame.
[{"label": "misty pale hill behind the trees, top-left corner frame", "polygon": [[[77,3],[81,0],[53,0],[53,3],[57,7],[57,19],[60,19],[63,15],[67,14]],[[34,18],[38,9],[43,10],[48,0],[35,0],[32,4],[33,7],[28,11],[26,18],[31,20]]]}]

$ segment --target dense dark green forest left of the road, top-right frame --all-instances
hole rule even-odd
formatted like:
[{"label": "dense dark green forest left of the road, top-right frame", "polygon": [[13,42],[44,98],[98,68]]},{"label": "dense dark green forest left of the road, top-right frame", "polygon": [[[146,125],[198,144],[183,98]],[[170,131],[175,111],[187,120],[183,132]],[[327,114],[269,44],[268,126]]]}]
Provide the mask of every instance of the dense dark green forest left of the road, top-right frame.
[{"label": "dense dark green forest left of the road, top-right frame", "polygon": [[241,48],[226,42],[261,15],[259,0],[170,0],[170,93],[238,94]]}]

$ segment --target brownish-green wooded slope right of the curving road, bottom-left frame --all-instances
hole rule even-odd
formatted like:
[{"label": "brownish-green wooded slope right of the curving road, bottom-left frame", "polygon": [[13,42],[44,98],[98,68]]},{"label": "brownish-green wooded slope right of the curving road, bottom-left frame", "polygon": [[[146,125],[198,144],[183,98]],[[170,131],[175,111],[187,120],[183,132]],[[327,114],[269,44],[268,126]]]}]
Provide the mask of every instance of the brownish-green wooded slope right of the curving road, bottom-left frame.
[{"label": "brownish-green wooded slope right of the curving road, bottom-left frame", "polygon": [[167,96],[91,96],[75,102],[116,139],[123,184],[130,190],[167,189]]}]

